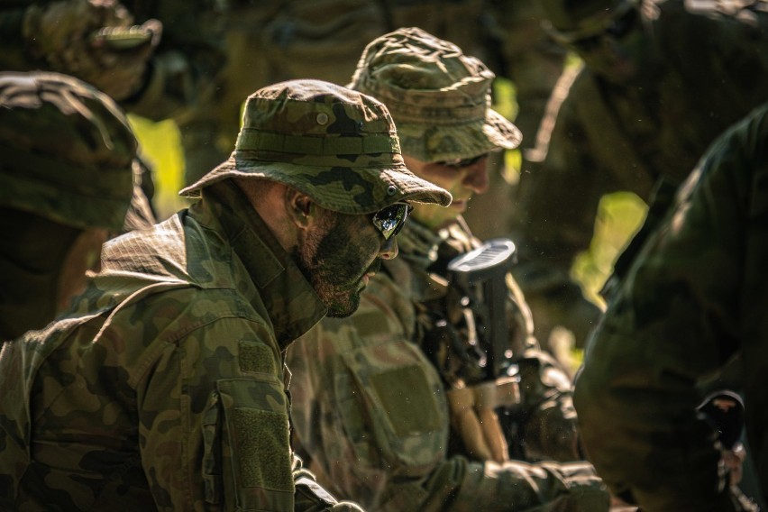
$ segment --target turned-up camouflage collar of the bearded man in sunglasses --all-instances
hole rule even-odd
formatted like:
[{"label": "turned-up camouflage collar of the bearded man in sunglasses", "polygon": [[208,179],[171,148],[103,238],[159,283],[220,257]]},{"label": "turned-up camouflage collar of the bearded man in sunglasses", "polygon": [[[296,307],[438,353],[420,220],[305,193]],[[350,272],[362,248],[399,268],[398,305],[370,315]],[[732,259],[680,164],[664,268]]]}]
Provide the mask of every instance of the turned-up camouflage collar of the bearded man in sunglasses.
[{"label": "turned-up camouflage collar of the bearded man in sunglasses", "polygon": [[[242,261],[266,308],[279,346],[285,350],[326,314],[327,309],[261,215],[232,180],[203,189],[203,202]],[[260,305],[254,304],[257,311]]]}]

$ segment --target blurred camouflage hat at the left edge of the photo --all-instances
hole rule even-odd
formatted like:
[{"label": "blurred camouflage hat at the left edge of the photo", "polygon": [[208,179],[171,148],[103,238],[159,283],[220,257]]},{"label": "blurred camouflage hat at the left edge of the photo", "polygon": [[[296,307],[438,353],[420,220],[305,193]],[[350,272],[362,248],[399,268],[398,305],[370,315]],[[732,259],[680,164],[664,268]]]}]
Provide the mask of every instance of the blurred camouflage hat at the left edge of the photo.
[{"label": "blurred camouflage hat at the left edge of the photo", "polygon": [[0,206],[119,230],[138,143],[120,108],[58,73],[0,73]]}]

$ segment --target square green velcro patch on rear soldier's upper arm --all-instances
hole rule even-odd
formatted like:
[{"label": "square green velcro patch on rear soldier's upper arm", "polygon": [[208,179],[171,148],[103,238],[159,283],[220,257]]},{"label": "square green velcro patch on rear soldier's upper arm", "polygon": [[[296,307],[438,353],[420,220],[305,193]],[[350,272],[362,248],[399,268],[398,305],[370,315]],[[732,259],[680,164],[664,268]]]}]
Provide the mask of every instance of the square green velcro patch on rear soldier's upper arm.
[{"label": "square green velcro patch on rear soldier's upper arm", "polygon": [[373,389],[395,432],[400,436],[434,432],[440,428],[433,398],[419,396],[432,393],[424,372],[417,366],[383,371],[370,377]]}]

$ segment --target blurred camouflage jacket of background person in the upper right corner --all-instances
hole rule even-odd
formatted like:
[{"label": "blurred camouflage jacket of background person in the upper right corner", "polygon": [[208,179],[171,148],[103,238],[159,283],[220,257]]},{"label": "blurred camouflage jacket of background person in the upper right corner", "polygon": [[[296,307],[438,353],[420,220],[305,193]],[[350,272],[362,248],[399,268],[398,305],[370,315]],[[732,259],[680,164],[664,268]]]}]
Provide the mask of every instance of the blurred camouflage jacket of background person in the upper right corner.
[{"label": "blurred camouflage jacket of background person in the upper right corner", "polygon": [[714,7],[727,4],[739,3],[645,0],[658,72],[644,83],[614,85],[581,70],[546,159],[521,177],[512,238],[526,293],[569,279],[574,257],[590,247],[600,197],[647,200],[658,178],[680,183],[719,133],[768,99],[768,3]]}]

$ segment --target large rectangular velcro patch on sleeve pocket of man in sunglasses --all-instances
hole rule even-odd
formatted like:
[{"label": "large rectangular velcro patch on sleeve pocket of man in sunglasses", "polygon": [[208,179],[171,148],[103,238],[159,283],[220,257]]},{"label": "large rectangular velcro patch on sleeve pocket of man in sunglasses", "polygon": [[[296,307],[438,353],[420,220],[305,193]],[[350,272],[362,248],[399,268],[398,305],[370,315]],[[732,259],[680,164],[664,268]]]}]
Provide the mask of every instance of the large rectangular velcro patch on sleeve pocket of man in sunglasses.
[{"label": "large rectangular velcro patch on sleeve pocket of man in sunglasses", "polygon": [[261,409],[235,407],[232,413],[242,487],[293,490],[288,456],[288,418]]}]

